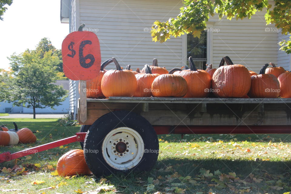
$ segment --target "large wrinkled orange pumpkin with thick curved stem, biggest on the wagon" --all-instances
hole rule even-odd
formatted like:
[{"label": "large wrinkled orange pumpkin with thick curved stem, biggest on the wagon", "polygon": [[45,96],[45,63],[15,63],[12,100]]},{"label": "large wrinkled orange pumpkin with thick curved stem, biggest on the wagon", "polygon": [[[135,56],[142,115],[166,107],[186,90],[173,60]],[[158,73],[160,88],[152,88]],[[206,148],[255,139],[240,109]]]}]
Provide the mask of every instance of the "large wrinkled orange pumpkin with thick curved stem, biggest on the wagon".
[{"label": "large wrinkled orange pumpkin with thick curved stem, biggest on the wagon", "polygon": [[[226,62],[226,66],[224,65]],[[212,90],[219,98],[241,98],[249,92],[251,77],[243,65],[234,65],[228,56],[224,56],[220,67],[212,76]]]}]

